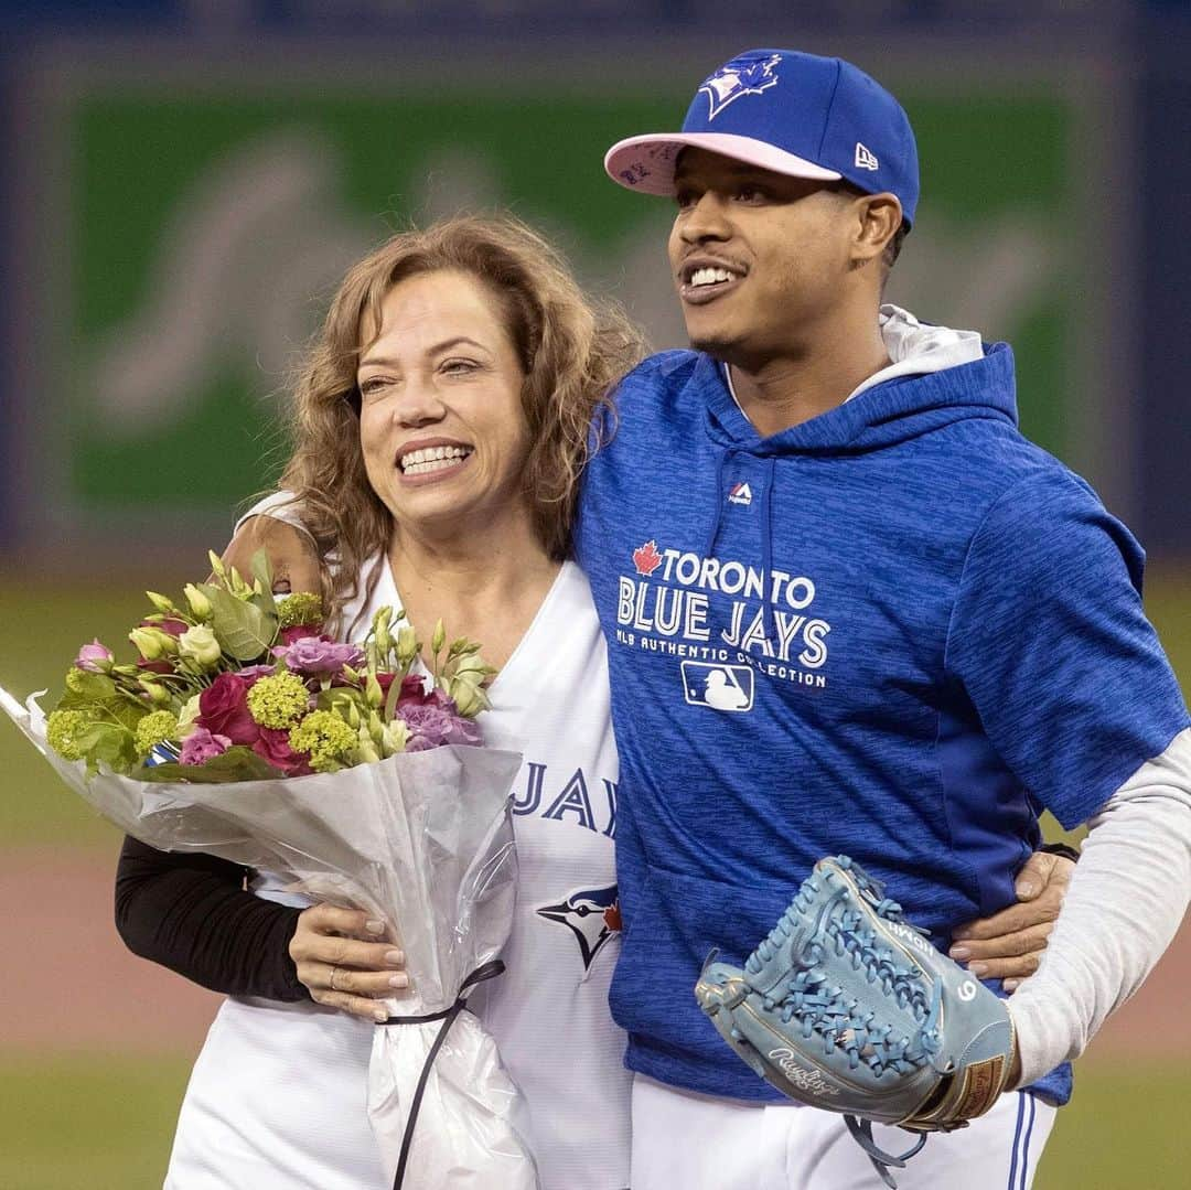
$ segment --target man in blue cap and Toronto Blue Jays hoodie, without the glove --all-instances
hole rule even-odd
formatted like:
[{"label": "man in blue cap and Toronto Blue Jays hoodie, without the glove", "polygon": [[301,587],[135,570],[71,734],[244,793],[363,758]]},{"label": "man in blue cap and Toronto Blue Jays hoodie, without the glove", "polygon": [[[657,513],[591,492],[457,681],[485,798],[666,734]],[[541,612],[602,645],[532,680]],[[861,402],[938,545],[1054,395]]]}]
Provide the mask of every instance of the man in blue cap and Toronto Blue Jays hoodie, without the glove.
[{"label": "man in blue cap and Toronto Blue Jays hoodie, without the glove", "polygon": [[1091,831],[1010,1001],[1008,1085],[1028,1090],[899,1175],[1028,1186],[1066,1061],[1158,960],[1191,884],[1191,730],[1142,552],[1018,432],[1005,344],[880,305],[918,168],[867,75],[740,55],[681,132],[622,141],[606,168],[676,203],[694,348],[621,384],[576,534],[622,765],[634,1188],[879,1185],[842,1117],[778,1105],[721,1041],[691,993],[700,964],[712,946],[740,962],[841,852],[962,959],[953,930],[1012,902],[1046,808]]}]

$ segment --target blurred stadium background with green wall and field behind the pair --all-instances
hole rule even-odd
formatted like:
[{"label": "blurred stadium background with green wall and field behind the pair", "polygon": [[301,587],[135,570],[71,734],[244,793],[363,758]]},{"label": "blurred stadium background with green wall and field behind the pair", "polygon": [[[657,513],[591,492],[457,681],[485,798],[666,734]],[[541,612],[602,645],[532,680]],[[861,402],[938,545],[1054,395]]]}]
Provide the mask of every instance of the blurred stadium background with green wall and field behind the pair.
[{"label": "blurred stadium background with green wall and field behind the pair", "polygon": [[[669,211],[603,177],[732,52],[841,54],[918,132],[890,297],[1017,351],[1023,425],[1149,549],[1191,690],[1181,0],[0,0],[0,681],[60,680],[222,546],[286,376],[391,229],[510,206],[659,347]],[[158,1185],[216,997],[129,957],[114,833],[0,727],[0,1186]],[[1041,1190],[1186,1185],[1185,929],[1079,1064]]]}]

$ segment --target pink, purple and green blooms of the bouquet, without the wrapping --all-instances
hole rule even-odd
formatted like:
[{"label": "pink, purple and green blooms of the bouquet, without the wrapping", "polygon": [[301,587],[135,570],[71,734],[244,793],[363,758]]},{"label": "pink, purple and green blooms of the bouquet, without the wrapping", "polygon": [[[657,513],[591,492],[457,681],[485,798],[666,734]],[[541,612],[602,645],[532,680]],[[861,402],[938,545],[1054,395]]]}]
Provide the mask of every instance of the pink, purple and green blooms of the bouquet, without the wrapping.
[{"label": "pink, purple and green blooms of the bouquet, without the wrapping", "polygon": [[[138,780],[243,781],[333,773],[400,752],[479,744],[473,722],[494,671],[480,646],[431,642],[430,690],[412,674],[420,644],[393,609],[362,646],[323,634],[322,600],[280,604],[263,556],[248,584],[211,555],[213,581],[189,584],[186,606],[148,592],[154,611],[129,638],[141,656],[118,665],[98,640],[79,650],[46,721],[51,748]],[[152,771],[150,771],[152,770]]]}]

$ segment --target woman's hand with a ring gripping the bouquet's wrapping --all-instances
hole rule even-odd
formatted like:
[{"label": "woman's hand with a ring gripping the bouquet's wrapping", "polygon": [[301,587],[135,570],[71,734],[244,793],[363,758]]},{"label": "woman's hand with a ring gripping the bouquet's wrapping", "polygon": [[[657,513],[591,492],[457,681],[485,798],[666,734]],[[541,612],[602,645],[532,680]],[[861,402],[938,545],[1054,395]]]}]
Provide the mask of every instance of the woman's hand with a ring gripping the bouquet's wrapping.
[{"label": "woman's hand with a ring gripping the bouquet's wrapping", "polygon": [[410,977],[401,970],[405,955],[384,934],[385,923],[358,909],[322,904],[304,910],[289,958],[311,999],[368,1021],[387,1020],[378,999],[409,987]]}]

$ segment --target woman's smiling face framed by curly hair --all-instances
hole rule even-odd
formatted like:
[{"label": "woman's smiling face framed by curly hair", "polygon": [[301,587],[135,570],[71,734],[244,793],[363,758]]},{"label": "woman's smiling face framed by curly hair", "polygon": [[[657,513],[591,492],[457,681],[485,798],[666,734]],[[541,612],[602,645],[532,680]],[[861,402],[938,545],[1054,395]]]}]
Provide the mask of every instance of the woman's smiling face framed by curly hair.
[{"label": "woman's smiling face framed by curly hair", "polygon": [[356,380],[373,490],[399,525],[455,534],[529,518],[525,374],[499,297],[468,273],[399,281],[364,318]]}]

